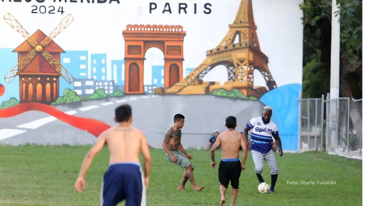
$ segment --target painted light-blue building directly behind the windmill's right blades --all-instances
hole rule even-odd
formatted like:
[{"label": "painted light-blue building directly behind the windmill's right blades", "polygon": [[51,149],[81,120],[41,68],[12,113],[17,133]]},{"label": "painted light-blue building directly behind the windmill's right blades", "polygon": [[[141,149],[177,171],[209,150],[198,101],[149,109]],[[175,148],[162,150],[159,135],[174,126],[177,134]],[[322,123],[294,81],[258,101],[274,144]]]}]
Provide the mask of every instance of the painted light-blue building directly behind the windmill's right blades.
[{"label": "painted light-blue building directly behind the windmill's right blades", "polygon": [[[75,79],[88,78],[88,51],[65,51],[65,53],[60,54],[60,63]],[[60,96],[63,96],[66,88],[73,89],[73,84],[68,84],[60,77]]]}]

